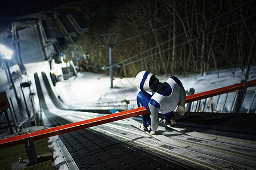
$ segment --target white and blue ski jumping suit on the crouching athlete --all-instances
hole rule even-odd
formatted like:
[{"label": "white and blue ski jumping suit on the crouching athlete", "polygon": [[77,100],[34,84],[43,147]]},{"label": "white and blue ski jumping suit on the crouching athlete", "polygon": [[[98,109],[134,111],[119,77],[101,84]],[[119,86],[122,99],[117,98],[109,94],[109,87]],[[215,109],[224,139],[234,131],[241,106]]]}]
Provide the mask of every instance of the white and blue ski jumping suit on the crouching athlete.
[{"label": "white and blue ski jumping suit on the crouching athlete", "polygon": [[[137,96],[138,107],[145,107],[150,113],[142,114],[143,126],[152,126],[152,131],[156,131],[159,124],[159,117],[170,123],[172,112],[180,103],[185,105],[185,90],[183,84],[176,76],[171,76],[166,82],[158,83],[155,93],[150,95],[146,91],[139,92]],[[151,118],[150,118],[151,114]]]}]

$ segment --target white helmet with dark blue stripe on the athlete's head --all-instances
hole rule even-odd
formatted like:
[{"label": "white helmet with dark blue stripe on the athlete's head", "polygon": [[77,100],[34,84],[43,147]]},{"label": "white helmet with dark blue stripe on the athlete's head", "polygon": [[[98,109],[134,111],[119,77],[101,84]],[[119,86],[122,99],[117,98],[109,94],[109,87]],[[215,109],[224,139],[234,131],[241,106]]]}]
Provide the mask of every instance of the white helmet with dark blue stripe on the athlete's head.
[{"label": "white helmet with dark blue stripe on the athlete's head", "polygon": [[151,91],[150,89],[150,78],[153,74],[149,71],[141,71],[137,74],[135,78],[136,86],[141,89],[141,91]]}]

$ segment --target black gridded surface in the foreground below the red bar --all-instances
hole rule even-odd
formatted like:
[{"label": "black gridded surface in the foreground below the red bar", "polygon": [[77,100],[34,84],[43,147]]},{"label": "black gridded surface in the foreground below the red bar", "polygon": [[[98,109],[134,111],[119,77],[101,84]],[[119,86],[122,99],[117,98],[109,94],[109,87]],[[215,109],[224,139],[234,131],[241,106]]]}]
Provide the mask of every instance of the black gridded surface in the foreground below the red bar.
[{"label": "black gridded surface in the foreground below the red bar", "polygon": [[[121,142],[90,130],[59,135],[79,169],[170,169],[171,167],[135,151]],[[173,168],[172,168],[173,169]]]}]

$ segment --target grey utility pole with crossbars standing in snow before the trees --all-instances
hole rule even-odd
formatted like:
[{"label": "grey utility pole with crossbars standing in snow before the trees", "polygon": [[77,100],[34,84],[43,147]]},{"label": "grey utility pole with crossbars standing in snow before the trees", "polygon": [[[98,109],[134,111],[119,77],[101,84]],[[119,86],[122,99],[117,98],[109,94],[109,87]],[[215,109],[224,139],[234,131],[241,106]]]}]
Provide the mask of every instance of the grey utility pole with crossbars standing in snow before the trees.
[{"label": "grey utility pole with crossbars standing in snow before the trees", "polygon": [[[105,46],[108,46],[109,47],[109,75],[110,75],[110,88],[113,88],[113,76],[114,76],[114,70],[113,70],[113,47],[115,45],[118,45],[116,44],[117,43],[117,38],[119,36],[120,33],[110,33],[110,34],[104,34],[104,35],[101,35],[105,42],[106,42],[106,45],[103,45],[104,47]],[[108,37],[108,39],[106,39],[106,37]],[[112,43],[110,42],[112,41]]]}]

